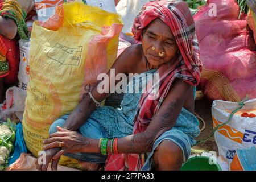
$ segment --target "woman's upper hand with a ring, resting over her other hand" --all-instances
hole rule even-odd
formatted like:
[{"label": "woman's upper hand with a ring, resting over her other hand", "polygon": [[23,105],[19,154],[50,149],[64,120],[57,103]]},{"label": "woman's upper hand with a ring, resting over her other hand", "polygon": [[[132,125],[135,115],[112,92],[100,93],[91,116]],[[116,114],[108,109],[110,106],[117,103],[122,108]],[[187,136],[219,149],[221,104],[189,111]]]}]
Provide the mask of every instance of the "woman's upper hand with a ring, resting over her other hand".
[{"label": "woman's upper hand with a ring, resting over her other hand", "polygon": [[83,152],[88,147],[89,139],[77,133],[57,126],[58,132],[50,135],[50,138],[44,140],[43,149],[47,150],[54,147],[62,147],[62,149],[53,156],[53,159],[60,158],[65,153]]}]

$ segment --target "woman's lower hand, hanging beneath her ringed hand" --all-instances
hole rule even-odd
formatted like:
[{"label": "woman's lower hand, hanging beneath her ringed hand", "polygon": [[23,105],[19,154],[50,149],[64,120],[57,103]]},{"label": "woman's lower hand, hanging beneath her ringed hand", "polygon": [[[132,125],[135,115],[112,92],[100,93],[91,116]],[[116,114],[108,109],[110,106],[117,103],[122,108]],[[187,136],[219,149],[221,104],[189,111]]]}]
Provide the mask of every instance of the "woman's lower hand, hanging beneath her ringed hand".
[{"label": "woman's lower hand, hanging beneath her ringed hand", "polygon": [[38,156],[38,160],[36,160],[36,169],[38,169],[38,171],[47,171],[49,162],[51,162],[51,160],[52,160],[52,164],[51,164],[52,171],[57,171],[57,166],[58,166],[60,158],[57,158],[54,160],[52,158],[60,150],[61,150],[61,148],[59,148],[59,147],[44,150],[45,155]]}]

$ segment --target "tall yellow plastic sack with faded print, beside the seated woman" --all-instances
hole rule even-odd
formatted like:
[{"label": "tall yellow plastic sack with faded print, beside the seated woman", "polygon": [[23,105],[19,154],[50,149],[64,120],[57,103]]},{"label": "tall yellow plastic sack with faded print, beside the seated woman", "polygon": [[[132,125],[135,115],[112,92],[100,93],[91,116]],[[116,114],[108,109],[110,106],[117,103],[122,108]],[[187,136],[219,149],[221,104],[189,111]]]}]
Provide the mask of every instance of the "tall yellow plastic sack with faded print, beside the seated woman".
[{"label": "tall yellow plastic sack with faded print, beside the seated woman", "polygon": [[[42,150],[51,124],[70,113],[83,94],[96,85],[98,74],[112,66],[121,30],[118,14],[82,3],[61,5],[47,22],[34,22],[22,121],[32,154],[37,156]],[[60,164],[74,161],[65,158]]]}]

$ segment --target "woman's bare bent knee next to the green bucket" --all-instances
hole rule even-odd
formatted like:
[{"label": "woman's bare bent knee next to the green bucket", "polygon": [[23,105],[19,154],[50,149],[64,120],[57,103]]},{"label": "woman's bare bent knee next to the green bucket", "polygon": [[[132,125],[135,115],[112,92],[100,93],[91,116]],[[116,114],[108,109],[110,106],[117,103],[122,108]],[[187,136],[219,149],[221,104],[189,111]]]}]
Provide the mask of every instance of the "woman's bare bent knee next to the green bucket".
[{"label": "woman's bare bent knee next to the green bucket", "polygon": [[183,164],[183,152],[171,140],[163,140],[153,155],[157,170],[179,170]]}]

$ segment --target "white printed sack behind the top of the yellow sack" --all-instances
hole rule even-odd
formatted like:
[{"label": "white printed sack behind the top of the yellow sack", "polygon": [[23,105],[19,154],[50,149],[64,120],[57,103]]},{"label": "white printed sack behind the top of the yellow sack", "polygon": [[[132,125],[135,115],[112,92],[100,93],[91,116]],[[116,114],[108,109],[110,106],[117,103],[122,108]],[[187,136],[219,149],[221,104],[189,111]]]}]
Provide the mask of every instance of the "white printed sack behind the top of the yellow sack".
[{"label": "white printed sack behind the top of the yellow sack", "polygon": [[63,3],[81,2],[91,6],[100,7],[102,10],[115,13],[114,0],[35,0],[36,13],[38,14],[39,21],[46,21],[49,19],[55,11],[55,7],[63,5]]}]

